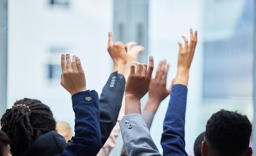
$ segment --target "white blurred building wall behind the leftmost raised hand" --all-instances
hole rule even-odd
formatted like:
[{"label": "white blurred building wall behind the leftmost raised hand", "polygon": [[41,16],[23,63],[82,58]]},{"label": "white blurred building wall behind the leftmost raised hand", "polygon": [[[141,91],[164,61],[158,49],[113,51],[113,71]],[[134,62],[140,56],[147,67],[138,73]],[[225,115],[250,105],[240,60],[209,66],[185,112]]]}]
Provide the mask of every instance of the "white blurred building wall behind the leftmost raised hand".
[{"label": "white blurred building wall behind the leftmost raised hand", "polygon": [[24,97],[50,106],[56,120],[74,127],[70,94],[60,79],[47,79],[49,48],[65,47],[81,58],[87,89],[100,94],[112,68],[108,32],[112,31],[112,0],[70,0],[70,8],[52,7],[49,0],[9,0],[8,106]]}]

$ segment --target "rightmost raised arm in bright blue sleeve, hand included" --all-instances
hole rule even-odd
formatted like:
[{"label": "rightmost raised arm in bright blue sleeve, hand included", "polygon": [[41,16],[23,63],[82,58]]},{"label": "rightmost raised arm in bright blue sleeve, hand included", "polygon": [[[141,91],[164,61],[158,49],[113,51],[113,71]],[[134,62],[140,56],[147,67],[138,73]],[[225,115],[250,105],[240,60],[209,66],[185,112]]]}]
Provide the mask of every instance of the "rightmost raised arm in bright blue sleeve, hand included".
[{"label": "rightmost raised arm in bright blue sleeve, hand included", "polygon": [[177,75],[171,90],[171,98],[164,119],[164,132],[161,145],[164,156],[187,156],[185,151],[184,126],[186,113],[187,84],[189,80],[189,69],[197,43],[197,31],[193,35],[190,29],[190,44],[185,36],[184,48],[179,42],[180,50],[178,57]]}]

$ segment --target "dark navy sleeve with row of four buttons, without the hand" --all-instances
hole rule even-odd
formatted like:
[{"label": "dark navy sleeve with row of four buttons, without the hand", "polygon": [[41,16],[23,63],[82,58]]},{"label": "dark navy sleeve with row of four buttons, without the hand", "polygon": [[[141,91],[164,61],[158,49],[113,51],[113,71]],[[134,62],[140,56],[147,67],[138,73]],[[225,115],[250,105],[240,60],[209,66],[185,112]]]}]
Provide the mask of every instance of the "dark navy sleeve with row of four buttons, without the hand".
[{"label": "dark navy sleeve with row of four buttons, without the hand", "polygon": [[124,86],[124,75],[114,72],[110,75],[102,90],[99,99],[102,146],[107,141],[110,132],[117,123],[117,117],[124,96]]}]

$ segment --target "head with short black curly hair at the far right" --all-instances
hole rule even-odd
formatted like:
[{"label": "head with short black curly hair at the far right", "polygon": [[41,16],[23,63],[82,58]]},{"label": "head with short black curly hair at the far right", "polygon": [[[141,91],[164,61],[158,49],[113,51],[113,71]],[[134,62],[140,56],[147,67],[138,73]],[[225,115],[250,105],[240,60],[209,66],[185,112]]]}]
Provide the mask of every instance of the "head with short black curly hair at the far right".
[{"label": "head with short black curly hair at the far right", "polygon": [[220,110],[207,121],[204,141],[219,156],[240,156],[249,148],[251,133],[247,116]]}]

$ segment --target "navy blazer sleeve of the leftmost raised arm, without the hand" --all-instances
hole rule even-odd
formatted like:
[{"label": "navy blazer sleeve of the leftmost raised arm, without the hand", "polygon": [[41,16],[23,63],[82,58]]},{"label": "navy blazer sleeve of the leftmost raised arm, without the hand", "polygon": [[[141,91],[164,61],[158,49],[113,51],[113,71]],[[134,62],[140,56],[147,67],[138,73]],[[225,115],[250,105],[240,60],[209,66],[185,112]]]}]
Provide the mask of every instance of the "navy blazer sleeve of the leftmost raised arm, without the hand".
[{"label": "navy blazer sleeve of the leftmost raised arm, without the hand", "polygon": [[72,96],[75,136],[62,154],[56,156],[96,156],[101,148],[99,95],[95,90]]}]

